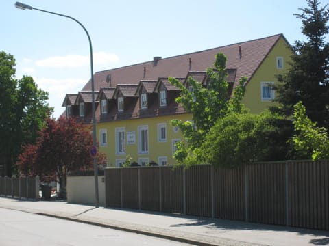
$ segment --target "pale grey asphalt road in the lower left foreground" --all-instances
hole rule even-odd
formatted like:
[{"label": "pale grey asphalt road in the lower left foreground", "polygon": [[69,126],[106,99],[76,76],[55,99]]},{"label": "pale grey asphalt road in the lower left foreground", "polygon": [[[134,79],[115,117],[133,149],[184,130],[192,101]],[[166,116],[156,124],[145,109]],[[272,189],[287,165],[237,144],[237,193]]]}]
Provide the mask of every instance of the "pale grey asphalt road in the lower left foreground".
[{"label": "pale grey asphalt road in the lower left foreground", "polygon": [[0,208],[0,245],[187,245],[162,238]]}]

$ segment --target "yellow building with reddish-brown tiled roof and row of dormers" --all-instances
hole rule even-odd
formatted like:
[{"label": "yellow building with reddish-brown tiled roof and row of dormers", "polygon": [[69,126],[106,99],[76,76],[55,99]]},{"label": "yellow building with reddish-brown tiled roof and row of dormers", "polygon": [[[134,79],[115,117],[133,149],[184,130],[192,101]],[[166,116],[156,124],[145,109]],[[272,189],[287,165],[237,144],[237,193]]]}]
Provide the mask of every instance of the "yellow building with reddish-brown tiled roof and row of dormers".
[{"label": "yellow building with reddish-brown tiled roof and row of dormers", "polygon": [[[287,70],[291,55],[282,34],[96,72],[97,140],[108,167],[121,166],[127,156],[139,165],[175,163],[175,143],[182,135],[170,122],[174,118],[191,120],[191,115],[175,102],[180,92],[168,77],[186,84],[186,78],[192,76],[206,85],[206,68],[213,67],[217,53],[227,57],[231,89],[241,77],[247,77],[243,103],[252,113],[271,105],[276,96],[271,85],[278,83],[277,74]],[[87,123],[92,120],[90,105],[90,81],[81,92],[66,94],[63,102],[66,116],[80,117]]]}]

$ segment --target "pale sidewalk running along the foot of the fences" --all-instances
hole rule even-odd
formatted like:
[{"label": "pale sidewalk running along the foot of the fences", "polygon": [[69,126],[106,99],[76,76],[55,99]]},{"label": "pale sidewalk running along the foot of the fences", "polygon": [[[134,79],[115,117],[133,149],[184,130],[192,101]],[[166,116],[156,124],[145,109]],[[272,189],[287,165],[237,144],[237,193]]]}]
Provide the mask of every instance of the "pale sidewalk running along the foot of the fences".
[{"label": "pale sidewalk running along the foot of the fences", "polygon": [[193,245],[329,245],[329,232],[321,230],[6,197],[0,197],[0,207]]}]

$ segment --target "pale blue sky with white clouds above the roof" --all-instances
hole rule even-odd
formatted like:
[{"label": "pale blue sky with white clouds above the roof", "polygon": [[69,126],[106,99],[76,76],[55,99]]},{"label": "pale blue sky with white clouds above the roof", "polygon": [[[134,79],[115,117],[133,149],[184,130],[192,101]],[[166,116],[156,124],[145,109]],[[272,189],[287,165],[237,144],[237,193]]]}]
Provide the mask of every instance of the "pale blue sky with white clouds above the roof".
[{"label": "pale blue sky with white clouds above the roof", "polygon": [[[329,0],[321,1],[322,5]],[[54,117],[66,93],[90,78],[88,39],[68,18],[0,3],[0,50],[16,58],[16,77],[34,77],[49,92]],[[305,40],[293,14],[304,0],[22,0],[79,20],[93,42],[94,72],[283,33]],[[138,82],[138,81],[136,81]]]}]

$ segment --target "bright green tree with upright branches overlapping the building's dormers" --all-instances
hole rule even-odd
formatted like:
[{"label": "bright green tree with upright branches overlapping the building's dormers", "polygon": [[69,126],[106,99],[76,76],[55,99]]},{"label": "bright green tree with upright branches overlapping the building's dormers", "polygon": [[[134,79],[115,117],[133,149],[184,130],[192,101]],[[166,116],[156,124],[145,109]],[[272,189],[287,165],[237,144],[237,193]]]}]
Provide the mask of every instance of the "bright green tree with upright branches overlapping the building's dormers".
[{"label": "bright green tree with upright branches overlapping the building's dormers", "polygon": [[173,77],[171,84],[180,89],[180,96],[176,101],[183,105],[187,113],[192,114],[192,121],[182,122],[172,120],[173,126],[178,126],[184,137],[184,142],[176,143],[175,159],[180,165],[189,165],[197,162],[197,148],[202,146],[207,133],[219,118],[228,112],[244,110],[241,98],[245,93],[245,77],[239,81],[234,90],[234,96],[229,99],[228,82],[226,77],[226,56],[222,53],[215,55],[214,68],[206,70],[208,86],[204,87],[193,77],[188,77],[188,87],[185,87]]}]

